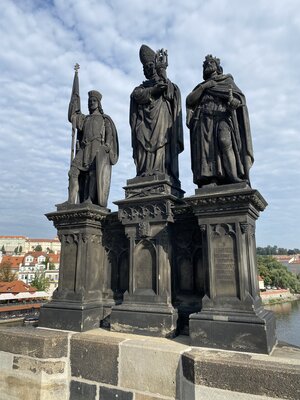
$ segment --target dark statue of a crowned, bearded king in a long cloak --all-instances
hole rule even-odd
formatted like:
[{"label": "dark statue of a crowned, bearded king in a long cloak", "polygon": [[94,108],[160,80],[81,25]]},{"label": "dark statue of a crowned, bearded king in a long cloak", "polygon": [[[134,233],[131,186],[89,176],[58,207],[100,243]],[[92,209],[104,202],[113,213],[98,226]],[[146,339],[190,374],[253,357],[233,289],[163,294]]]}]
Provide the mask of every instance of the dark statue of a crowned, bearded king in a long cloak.
[{"label": "dark statue of a crowned, bearded king in a long cloak", "polygon": [[245,96],[212,55],[204,60],[203,79],[186,99],[194,183],[250,185],[254,159]]}]

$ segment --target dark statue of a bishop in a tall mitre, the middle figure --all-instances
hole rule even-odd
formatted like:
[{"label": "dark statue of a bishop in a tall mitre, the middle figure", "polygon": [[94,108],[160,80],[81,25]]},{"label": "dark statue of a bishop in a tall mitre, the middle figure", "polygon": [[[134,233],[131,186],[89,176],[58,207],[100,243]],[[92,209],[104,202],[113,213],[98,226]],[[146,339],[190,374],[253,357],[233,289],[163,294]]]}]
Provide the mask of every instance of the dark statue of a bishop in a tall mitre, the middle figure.
[{"label": "dark statue of a bishop in a tall mitre, the middle figure", "polygon": [[166,75],[167,52],[142,45],[146,80],[131,94],[130,126],[137,176],[164,173],[178,181],[178,154],[183,151],[179,88]]}]

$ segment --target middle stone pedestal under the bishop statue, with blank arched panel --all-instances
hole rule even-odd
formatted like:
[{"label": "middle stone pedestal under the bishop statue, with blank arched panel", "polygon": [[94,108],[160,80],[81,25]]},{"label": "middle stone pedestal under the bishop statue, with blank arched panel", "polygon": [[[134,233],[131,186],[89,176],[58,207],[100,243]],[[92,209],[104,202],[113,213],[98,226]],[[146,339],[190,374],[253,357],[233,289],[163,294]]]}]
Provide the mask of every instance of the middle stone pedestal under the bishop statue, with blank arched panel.
[{"label": "middle stone pedestal under the bishop statue, with blank arched panel", "polygon": [[126,199],[116,202],[129,238],[129,289],[114,306],[111,330],[151,336],[175,334],[177,311],[171,302],[172,208],[182,196],[165,176],[127,181]]}]

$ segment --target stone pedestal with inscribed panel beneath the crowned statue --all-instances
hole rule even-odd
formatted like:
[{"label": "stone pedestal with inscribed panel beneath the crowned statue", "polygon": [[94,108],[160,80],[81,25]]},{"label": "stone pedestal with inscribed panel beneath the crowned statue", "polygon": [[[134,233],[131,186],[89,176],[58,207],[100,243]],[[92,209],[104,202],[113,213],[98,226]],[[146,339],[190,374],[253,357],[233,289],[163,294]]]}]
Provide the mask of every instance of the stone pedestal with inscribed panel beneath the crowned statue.
[{"label": "stone pedestal with inscribed panel beneath the crowned statue", "polygon": [[244,183],[198,189],[186,201],[203,235],[208,276],[202,310],[190,316],[191,345],[269,353],[275,318],[262,307],[255,245],[266,201]]}]

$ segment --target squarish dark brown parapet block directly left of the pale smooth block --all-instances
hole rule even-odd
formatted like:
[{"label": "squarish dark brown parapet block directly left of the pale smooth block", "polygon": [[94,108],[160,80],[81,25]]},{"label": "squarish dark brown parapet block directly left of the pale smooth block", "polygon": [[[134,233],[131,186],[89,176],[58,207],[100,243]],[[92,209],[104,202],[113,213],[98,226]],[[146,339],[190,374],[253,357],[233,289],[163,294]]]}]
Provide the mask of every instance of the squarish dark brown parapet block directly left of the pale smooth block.
[{"label": "squarish dark brown parapet block directly left of the pale smooth block", "polygon": [[80,333],[71,339],[71,374],[98,383],[118,384],[119,343],[123,338]]}]

